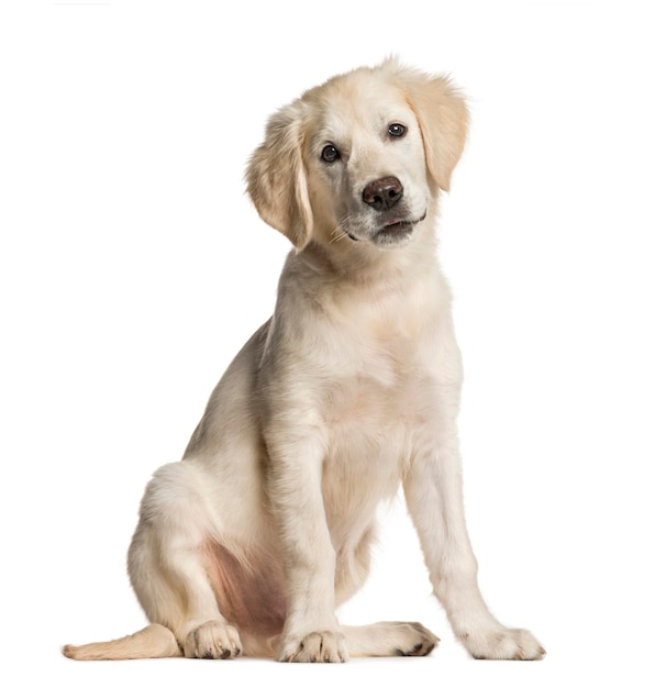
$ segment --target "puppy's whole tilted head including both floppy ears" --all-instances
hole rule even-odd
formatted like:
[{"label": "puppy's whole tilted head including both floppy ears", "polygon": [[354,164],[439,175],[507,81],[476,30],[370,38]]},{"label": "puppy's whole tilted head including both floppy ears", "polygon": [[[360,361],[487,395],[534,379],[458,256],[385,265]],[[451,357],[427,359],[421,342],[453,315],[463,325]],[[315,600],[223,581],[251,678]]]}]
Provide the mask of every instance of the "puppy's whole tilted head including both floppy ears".
[{"label": "puppy's whole tilted head including both floppy ears", "polygon": [[247,167],[260,217],[310,241],[408,243],[448,190],[467,131],[445,77],[388,59],[334,77],[274,114]]}]

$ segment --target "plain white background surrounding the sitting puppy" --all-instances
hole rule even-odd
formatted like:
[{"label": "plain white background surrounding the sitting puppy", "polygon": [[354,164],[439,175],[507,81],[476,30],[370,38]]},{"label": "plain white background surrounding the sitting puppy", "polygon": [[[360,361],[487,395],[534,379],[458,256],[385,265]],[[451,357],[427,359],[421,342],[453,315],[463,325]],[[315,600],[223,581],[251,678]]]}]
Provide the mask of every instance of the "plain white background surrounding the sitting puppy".
[{"label": "plain white background surrounding the sitting puppy", "polygon": [[[99,4],[0,9],[0,680],[663,686],[659,3]],[[547,657],[467,658],[398,501],[341,617],[421,620],[428,658],[65,659],[143,625],[124,561],[144,485],[270,314],[289,246],[243,187],[266,118],[389,53],[470,99],[441,222],[468,524],[491,609]]]}]

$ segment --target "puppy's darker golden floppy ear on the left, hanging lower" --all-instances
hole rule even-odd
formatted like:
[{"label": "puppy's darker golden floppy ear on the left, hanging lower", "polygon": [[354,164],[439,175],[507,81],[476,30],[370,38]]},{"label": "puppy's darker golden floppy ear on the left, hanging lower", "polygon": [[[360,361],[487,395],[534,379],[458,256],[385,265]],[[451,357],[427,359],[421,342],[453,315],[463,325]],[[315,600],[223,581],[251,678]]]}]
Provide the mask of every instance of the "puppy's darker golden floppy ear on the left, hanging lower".
[{"label": "puppy's darker golden floppy ear on the left, hanging lower", "polygon": [[264,222],[285,234],[297,249],[312,235],[302,143],[302,108],[286,106],[268,120],[264,143],[245,173],[247,192]]}]

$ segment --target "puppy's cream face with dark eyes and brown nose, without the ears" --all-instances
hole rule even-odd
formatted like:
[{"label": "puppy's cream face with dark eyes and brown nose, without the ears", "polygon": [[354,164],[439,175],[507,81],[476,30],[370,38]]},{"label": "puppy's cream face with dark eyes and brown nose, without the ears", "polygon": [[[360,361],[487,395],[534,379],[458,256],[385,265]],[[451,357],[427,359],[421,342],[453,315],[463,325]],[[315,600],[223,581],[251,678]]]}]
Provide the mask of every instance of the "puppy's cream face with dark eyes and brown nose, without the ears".
[{"label": "puppy's cream face with dark eyes and brown nose, without the ears", "polygon": [[303,163],[315,235],[400,246],[432,202],[421,129],[396,86],[354,76],[306,100],[312,104]]}]

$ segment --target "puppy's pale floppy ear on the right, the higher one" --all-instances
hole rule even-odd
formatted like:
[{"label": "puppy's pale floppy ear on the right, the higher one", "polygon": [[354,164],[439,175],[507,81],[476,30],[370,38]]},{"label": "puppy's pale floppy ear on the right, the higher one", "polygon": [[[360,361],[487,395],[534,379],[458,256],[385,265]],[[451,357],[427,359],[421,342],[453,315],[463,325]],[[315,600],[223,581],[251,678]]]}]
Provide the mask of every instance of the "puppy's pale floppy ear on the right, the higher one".
[{"label": "puppy's pale floppy ear on the right, the higher one", "polygon": [[437,186],[448,191],[467,138],[465,100],[444,76],[403,70],[401,84],[421,125],[428,169]]}]

